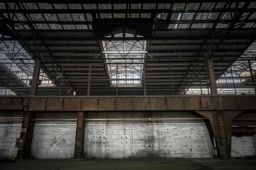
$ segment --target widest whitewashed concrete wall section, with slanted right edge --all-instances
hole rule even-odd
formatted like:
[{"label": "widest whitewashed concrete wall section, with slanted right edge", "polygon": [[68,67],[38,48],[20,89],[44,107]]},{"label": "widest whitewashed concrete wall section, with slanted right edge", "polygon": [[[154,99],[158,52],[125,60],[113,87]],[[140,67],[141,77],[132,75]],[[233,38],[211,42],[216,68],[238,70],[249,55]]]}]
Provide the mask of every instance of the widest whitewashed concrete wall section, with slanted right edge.
[{"label": "widest whitewashed concrete wall section, with slanted right edge", "polygon": [[204,121],[87,122],[87,158],[212,158],[215,151]]}]

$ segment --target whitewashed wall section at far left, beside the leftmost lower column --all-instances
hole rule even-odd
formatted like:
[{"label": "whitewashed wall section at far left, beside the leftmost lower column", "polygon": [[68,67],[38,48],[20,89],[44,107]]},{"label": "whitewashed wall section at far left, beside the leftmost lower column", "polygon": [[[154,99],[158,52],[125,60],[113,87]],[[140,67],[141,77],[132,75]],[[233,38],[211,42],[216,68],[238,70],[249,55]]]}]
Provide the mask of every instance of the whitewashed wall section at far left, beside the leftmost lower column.
[{"label": "whitewashed wall section at far left, beside the leftmost lower column", "polygon": [[[21,118],[21,112],[0,112],[0,119]],[[10,159],[17,156],[16,138],[20,137],[22,122],[0,122],[0,159]]]}]

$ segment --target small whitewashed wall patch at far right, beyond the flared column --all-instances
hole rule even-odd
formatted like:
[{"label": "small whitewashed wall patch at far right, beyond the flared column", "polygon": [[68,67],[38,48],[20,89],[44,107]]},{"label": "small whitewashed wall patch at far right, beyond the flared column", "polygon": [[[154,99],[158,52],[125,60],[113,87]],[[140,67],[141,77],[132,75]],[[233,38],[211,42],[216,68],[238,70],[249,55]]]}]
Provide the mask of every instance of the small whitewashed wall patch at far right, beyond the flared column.
[{"label": "small whitewashed wall patch at far right, beyond the flared column", "polygon": [[256,156],[254,142],[253,136],[250,133],[242,133],[242,137],[233,135],[231,157]]}]

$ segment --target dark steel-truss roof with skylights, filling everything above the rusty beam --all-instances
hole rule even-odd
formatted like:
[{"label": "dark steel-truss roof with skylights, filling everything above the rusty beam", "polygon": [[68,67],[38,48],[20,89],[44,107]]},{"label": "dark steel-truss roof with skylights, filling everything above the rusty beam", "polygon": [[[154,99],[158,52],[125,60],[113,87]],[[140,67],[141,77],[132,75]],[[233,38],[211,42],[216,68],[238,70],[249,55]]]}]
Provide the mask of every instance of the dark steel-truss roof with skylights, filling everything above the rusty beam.
[{"label": "dark steel-truss roof with skylights, filling everything above the rusty beam", "polygon": [[[8,82],[7,89],[15,94],[29,94],[29,85],[22,82],[32,77],[11,79],[10,69],[3,65],[17,62],[12,65],[29,75],[35,59],[32,54],[40,47],[41,79],[47,77],[49,85],[40,87],[38,95],[59,95],[60,86],[63,94],[70,91],[67,95],[73,95],[76,91],[87,95],[89,64],[90,95],[116,95],[116,75],[120,79],[118,95],[143,95],[144,63],[148,95],[173,95],[173,89],[176,94],[183,94],[187,88],[187,94],[198,94],[200,84],[207,94],[205,61],[212,42],[210,57],[218,88],[232,91],[235,82],[238,92],[253,91],[246,59],[251,59],[255,70],[255,48],[250,46],[256,40],[255,11],[256,2],[224,0],[120,4],[1,2],[0,46],[15,42],[23,49],[0,49],[9,57],[0,61],[0,89],[5,90]],[[246,23],[243,27],[239,26],[241,20]],[[13,57],[12,51],[17,55]],[[22,51],[32,58],[28,61],[18,57]],[[22,65],[31,68],[24,70]],[[230,75],[237,78],[233,81]]]}]

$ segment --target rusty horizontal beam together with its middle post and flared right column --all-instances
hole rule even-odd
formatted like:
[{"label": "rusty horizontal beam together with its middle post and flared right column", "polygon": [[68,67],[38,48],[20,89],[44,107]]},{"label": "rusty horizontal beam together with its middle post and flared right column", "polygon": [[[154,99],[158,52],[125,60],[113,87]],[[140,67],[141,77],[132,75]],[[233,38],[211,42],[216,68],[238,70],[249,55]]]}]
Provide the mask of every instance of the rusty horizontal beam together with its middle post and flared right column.
[{"label": "rusty horizontal beam together with its middle post and flared right column", "polygon": [[256,111],[255,103],[256,96],[31,96],[0,98],[0,110],[77,111],[75,158],[82,157],[84,112],[193,111],[209,119],[219,156],[228,159],[232,120],[244,111]]}]

